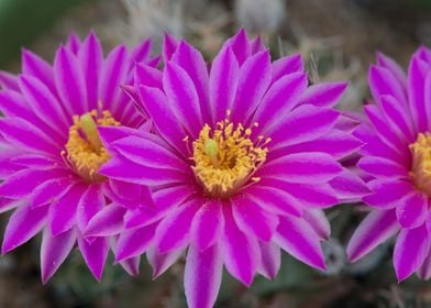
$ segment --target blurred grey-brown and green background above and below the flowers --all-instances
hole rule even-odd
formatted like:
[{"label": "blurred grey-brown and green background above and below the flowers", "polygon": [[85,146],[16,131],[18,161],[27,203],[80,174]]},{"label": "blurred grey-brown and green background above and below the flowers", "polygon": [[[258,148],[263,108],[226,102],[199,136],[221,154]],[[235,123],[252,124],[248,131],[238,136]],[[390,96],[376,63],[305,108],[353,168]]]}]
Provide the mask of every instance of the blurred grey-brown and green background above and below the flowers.
[{"label": "blurred grey-brown and green background above and below the flowers", "polygon": [[[210,59],[240,28],[262,35],[274,58],[301,53],[311,81],[350,80],[340,108],[361,110],[367,69],[380,51],[407,67],[419,44],[431,44],[430,0],[0,0],[0,68],[20,72],[20,50],[52,62],[59,42],[95,30],[106,51],[164,32],[185,37]],[[332,239],[324,244],[328,273],[284,255],[274,282],[256,277],[246,289],[224,274],[218,307],[431,307],[431,284],[416,277],[398,284],[393,243],[349,265],[344,245],[364,216],[361,205],[328,212]],[[4,226],[4,218],[2,221]],[[129,277],[108,262],[97,283],[78,252],[42,286],[40,242],[0,258],[0,307],[186,307],[183,264],[152,282],[146,261]]]}]

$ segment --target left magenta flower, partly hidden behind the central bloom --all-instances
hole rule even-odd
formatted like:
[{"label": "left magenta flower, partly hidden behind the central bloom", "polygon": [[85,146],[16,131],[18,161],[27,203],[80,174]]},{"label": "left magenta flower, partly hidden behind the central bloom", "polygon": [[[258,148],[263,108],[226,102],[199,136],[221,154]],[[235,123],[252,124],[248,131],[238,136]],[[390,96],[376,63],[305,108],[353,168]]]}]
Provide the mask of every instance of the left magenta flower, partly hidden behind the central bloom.
[{"label": "left magenta flower, partly hidden behind the central bloom", "polygon": [[[2,253],[43,230],[43,282],[76,242],[100,279],[108,238],[84,239],[84,229],[101,209],[119,210],[117,201],[131,197],[123,189],[145,190],[98,173],[110,158],[98,128],[126,130],[122,127],[137,128],[143,122],[120,86],[133,80],[136,61],[156,65],[150,61],[150,42],[144,42],[131,53],[121,45],[103,57],[95,34],[82,43],[71,35],[58,48],[53,66],[24,51],[22,74],[0,74],[0,110],[4,114],[0,120],[0,177],[4,180],[0,210],[15,209],[4,232]],[[128,201],[132,207],[142,200],[133,196]],[[133,273],[135,263],[129,260],[124,266]]]}]

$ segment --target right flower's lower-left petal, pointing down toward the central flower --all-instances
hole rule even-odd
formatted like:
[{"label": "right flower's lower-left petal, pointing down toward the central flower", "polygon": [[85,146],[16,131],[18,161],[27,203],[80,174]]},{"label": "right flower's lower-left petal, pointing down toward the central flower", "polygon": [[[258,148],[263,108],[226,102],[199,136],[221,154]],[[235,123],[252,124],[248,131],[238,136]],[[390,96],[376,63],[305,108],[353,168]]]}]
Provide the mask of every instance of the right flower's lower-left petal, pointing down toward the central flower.
[{"label": "right flower's lower-left petal, pointing down toward the central flower", "polygon": [[347,256],[355,262],[399,230],[395,210],[373,210],[361,222],[347,245]]}]

